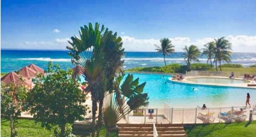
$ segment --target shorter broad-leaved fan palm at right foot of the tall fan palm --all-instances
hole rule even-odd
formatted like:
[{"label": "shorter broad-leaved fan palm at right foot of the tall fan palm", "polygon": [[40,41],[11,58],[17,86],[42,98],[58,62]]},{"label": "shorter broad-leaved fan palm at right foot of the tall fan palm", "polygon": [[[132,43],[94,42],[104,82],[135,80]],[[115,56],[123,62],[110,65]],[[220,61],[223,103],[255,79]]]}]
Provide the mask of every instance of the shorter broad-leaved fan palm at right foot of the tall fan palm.
[{"label": "shorter broad-leaved fan palm at right foot of the tall fan palm", "polygon": [[123,81],[124,75],[115,78],[114,93],[106,93],[104,99],[103,121],[106,126],[106,136],[116,128],[116,123],[131,111],[140,106],[148,105],[147,93],[143,93],[146,83],[139,85],[139,78],[133,80],[133,75],[128,74]]}]

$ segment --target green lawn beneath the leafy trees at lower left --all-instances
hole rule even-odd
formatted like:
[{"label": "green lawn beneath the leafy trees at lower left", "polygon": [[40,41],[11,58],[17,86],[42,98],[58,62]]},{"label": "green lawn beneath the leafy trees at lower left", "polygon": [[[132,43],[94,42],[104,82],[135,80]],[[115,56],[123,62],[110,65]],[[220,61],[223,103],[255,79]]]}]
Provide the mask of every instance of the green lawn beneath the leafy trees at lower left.
[{"label": "green lawn beneath the leafy trees at lower left", "polygon": [[[53,132],[42,128],[40,123],[35,123],[34,120],[18,120],[14,124],[14,127],[17,131],[17,136],[27,136],[27,137],[49,137],[53,135]],[[4,119],[1,119],[1,136],[10,136],[10,122]]]}]

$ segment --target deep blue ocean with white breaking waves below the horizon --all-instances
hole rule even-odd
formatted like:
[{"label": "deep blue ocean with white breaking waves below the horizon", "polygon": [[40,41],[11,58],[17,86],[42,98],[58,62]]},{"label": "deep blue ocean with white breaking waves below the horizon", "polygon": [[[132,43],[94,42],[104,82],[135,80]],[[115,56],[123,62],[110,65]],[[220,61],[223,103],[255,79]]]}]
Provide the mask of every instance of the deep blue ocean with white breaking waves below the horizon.
[{"label": "deep blue ocean with white breaking waves below the horizon", "polygon": [[[182,52],[176,52],[166,57],[166,64],[185,64]],[[124,69],[134,67],[163,66],[162,54],[156,52],[125,52]],[[200,63],[206,63],[205,57],[200,57]],[[67,51],[63,50],[9,50],[1,49],[1,72],[16,71],[31,63],[46,69],[48,62],[52,61],[63,69],[74,67]],[[256,64],[256,53],[232,54],[232,62],[247,67]]]}]

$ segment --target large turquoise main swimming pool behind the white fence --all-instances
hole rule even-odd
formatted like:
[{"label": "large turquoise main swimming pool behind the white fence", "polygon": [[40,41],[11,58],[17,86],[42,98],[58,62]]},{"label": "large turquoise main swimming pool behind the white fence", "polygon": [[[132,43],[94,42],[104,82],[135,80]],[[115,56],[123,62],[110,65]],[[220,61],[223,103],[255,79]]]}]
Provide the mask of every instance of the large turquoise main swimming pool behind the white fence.
[{"label": "large turquoise main swimming pool behind the white fence", "polygon": [[148,92],[150,107],[163,107],[164,101],[173,107],[239,106],[245,105],[247,93],[250,104],[256,103],[256,89],[173,83],[171,76],[160,74],[133,75],[140,83],[146,81],[144,92]]}]

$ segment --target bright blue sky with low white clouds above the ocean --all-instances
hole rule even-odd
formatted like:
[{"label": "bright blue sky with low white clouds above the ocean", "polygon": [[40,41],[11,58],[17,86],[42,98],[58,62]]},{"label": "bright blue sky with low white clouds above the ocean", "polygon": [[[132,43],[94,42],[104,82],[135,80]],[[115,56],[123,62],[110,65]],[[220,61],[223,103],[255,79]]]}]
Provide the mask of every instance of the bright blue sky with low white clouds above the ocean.
[{"label": "bright blue sky with low white clouds above the ocean", "polygon": [[256,52],[256,1],[2,1],[2,48],[65,49],[80,26],[99,22],[129,51],[176,50],[227,37],[234,51]]}]

